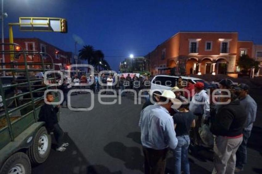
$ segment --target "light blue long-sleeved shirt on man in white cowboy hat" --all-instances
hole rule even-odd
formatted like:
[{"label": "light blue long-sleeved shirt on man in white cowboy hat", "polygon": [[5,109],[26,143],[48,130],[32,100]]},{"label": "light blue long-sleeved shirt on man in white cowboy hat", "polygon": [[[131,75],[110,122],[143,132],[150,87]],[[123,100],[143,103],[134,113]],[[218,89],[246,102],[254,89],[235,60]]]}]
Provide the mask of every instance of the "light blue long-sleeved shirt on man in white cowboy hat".
[{"label": "light blue long-sleeved shirt on man in white cowboy hat", "polygon": [[149,105],[140,113],[139,127],[141,129],[141,142],[146,148],[175,149],[178,140],[174,128],[173,118],[161,105]]}]

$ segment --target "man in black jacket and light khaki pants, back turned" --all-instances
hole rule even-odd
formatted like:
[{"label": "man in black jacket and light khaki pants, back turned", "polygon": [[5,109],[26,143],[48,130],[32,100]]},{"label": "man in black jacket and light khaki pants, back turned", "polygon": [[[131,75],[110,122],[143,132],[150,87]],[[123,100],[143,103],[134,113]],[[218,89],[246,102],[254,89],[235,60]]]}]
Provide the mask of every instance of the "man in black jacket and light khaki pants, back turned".
[{"label": "man in black jacket and light khaki pants, back turned", "polygon": [[212,120],[211,132],[215,135],[214,140],[214,173],[229,173],[235,171],[235,153],[243,140],[243,130],[247,114],[240,105],[233,89],[222,92],[222,95],[230,95],[221,98],[222,105]]}]

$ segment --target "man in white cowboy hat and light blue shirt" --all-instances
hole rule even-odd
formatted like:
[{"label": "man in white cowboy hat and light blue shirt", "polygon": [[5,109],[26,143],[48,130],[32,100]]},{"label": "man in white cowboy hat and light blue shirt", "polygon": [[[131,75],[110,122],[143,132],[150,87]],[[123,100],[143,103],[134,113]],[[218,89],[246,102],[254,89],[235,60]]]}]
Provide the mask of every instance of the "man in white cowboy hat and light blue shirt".
[{"label": "man in white cowboy hat and light blue shirt", "polygon": [[[141,111],[139,127],[145,156],[146,174],[164,174],[168,148],[175,149],[178,143],[174,130],[174,121],[169,114],[176,102],[171,90],[164,90],[159,102],[149,105]],[[175,106],[178,108],[179,106]]]}]

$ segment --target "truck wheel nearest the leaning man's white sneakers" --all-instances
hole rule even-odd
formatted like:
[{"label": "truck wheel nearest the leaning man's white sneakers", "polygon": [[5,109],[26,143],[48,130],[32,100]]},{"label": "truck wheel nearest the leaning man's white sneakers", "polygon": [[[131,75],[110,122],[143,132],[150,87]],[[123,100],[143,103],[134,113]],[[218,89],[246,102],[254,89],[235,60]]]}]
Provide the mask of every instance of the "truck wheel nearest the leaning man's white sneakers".
[{"label": "truck wheel nearest the leaning man's white sneakers", "polygon": [[51,150],[51,136],[45,127],[41,127],[33,140],[33,144],[27,150],[27,155],[32,165],[45,162]]}]

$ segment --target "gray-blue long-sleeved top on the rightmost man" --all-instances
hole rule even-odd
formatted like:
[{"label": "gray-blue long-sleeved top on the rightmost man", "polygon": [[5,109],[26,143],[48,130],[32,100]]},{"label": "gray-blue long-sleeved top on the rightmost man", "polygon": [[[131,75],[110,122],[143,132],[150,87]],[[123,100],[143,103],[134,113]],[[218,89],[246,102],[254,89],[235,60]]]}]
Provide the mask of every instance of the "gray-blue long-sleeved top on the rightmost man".
[{"label": "gray-blue long-sleeved top on the rightmost man", "polygon": [[257,104],[255,100],[252,97],[250,97],[250,95],[247,95],[246,97],[240,99],[240,105],[244,107],[248,116],[245,130],[251,131],[253,127],[253,122],[255,122],[256,120]]}]

